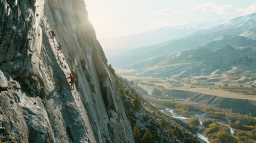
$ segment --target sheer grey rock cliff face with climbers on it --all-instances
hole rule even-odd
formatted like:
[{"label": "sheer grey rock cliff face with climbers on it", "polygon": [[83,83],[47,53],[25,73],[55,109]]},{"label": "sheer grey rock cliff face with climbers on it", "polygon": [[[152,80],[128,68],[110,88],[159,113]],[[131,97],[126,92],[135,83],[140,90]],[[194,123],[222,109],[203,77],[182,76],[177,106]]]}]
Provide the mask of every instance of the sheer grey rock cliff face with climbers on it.
[{"label": "sheer grey rock cliff face with climbers on it", "polygon": [[1,0],[2,141],[134,142],[85,8],[83,0]]}]

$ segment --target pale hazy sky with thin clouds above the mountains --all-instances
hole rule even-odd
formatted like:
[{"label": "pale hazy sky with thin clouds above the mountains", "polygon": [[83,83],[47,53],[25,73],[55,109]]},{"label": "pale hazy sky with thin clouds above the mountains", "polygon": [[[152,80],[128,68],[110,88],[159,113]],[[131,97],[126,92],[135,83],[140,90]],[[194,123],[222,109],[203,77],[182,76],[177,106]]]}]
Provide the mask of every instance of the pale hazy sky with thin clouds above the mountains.
[{"label": "pale hazy sky with thin clouds above the mountains", "polygon": [[97,38],[256,13],[255,0],[85,0]]}]

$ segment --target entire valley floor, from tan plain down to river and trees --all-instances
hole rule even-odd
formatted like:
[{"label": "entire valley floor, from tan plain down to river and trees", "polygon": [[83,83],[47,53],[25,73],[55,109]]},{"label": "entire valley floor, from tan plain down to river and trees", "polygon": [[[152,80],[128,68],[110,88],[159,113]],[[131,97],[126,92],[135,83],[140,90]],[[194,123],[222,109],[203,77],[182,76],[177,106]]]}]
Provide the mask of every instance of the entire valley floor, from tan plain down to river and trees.
[{"label": "entire valley floor, from tan plain down to river and trees", "polygon": [[[238,83],[201,82],[198,80],[178,80],[156,77],[122,76],[133,85],[142,97],[153,107],[172,119],[181,120],[190,125],[191,120],[198,124],[191,128],[205,142],[213,142],[217,134],[234,142],[243,141],[245,132],[254,132],[256,122],[255,87]],[[227,86],[228,85],[228,86]],[[238,122],[240,122],[238,125]],[[211,122],[211,124],[208,124]],[[243,125],[244,124],[244,125]],[[216,130],[212,130],[211,126]],[[254,137],[246,137],[253,142]]]}]

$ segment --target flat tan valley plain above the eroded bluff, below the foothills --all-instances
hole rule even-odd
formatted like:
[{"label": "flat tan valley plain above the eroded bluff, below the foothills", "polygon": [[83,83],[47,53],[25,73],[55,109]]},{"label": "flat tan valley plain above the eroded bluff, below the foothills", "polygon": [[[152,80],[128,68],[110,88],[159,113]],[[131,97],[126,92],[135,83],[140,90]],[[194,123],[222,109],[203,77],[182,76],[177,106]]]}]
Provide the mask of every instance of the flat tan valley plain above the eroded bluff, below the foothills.
[{"label": "flat tan valley plain above the eroded bluff, below the foothills", "polygon": [[[121,73],[124,74],[124,73]],[[224,98],[256,101],[256,87],[226,82],[201,82],[198,80],[169,79],[158,77],[138,77],[124,74],[125,79],[132,80],[138,86],[152,93],[154,90],[167,89],[177,91],[197,92],[205,95],[215,95]],[[159,95],[164,96],[164,95]]]}]

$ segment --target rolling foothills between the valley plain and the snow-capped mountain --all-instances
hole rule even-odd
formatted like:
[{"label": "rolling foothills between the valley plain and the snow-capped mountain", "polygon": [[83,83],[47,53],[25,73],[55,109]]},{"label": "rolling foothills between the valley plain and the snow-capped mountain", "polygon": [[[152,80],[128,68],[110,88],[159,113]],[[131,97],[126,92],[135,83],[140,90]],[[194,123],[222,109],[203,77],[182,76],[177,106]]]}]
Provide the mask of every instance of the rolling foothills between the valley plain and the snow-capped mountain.
[{"label": "rolling foothills between the valley plain and the snow-capped mountain", "polygon": [[255,84],[255,59],[255,48],[236,49],[226,45],[216,51],[191,49],[150,58],[125,67],[134,70],[121,74],[251,85]]}]

